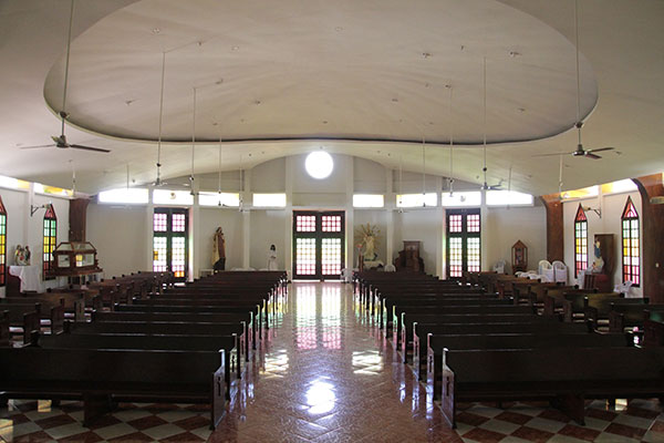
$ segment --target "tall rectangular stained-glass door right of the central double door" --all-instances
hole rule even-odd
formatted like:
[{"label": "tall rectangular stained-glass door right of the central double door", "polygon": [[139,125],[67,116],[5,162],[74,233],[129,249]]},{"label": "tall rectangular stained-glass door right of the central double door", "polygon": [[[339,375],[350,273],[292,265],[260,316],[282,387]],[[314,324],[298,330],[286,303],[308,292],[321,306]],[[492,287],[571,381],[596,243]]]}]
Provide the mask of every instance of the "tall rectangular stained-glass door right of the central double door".
[{"label": "tall rectangular stained-glass door right of the central double door", "polygon": [[447,209],[447,275],[481,270],[479,209]]}]

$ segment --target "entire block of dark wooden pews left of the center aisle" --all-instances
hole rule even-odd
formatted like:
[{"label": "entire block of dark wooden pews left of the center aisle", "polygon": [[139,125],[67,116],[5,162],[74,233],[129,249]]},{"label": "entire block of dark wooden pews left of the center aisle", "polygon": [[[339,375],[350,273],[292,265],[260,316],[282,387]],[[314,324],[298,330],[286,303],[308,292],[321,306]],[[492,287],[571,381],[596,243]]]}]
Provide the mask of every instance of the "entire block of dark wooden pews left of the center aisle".
[{"label": "entire block of dark wooden pews left of the center aisle", "polygon": [[268,313],[287,295],[284,272],[221,272],[185,286],[165,279],[149,290],[143,281],[152,277],[129,280],[108,280],[125,293],[94,309],[91,321],[68,320],[61,333],[33,330],[29,344],[0,349],[4,403],[82,399],[87,425],[117,402],[203,402],[214,429],[231,375],[241,377]]}]

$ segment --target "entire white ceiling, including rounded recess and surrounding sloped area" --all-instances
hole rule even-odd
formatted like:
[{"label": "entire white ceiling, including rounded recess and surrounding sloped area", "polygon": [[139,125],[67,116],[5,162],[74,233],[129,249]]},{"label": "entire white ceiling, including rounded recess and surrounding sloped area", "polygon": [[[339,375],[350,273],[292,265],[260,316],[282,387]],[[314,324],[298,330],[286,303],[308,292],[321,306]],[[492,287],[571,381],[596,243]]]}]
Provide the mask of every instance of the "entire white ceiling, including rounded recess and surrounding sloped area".
[{"label": "entire white ceiling, including rounded recess and surrounding sloped area", "polygon": [[[163,176],[251,166],[324,146],[533,194],[558,189],[577,119],[573,1],[76,1],[66,111],[74,150],[20,150],[60,133],[69,0],[0,1],[0,174],[94,193],[155,177],[166,52]],[[564,188],[664,171],[664,2],[579,0],[587,148]],[[483,63],[486,58],[486,126]],[[450,90],[446,87],[452,85]],[[590,114],[590,115],[589,115]],[[75,126],[75,127],[74,127]],[[620,153],[620,154],[619,154]],[[71,161],[71,162],[70,162]]]}]

